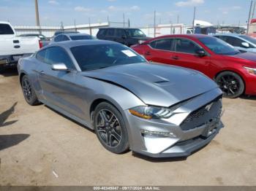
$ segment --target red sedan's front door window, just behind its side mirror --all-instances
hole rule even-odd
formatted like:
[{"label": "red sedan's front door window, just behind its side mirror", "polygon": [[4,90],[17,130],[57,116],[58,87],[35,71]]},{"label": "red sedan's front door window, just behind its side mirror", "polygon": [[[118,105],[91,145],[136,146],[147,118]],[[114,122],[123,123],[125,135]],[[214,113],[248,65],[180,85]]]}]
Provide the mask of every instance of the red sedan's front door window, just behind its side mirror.
[{"label": "red sedan's front door window, just behind its side mirror", "polygon": [[188,39],[176,39],[176,52],[195,54],[200,47]]}]

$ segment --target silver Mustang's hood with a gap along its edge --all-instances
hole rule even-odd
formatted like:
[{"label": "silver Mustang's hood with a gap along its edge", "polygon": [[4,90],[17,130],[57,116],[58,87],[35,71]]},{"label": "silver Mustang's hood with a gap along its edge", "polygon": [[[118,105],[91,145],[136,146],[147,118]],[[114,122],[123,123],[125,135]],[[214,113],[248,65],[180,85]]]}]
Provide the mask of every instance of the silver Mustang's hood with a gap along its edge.
[{"label": "silver Mustang's hood with a gap along its edge", "polygon": [[156,63],[113,66],[82,75],[121,86],[155,106],[172,106],[217,88],[214,81],[197,71]]}]

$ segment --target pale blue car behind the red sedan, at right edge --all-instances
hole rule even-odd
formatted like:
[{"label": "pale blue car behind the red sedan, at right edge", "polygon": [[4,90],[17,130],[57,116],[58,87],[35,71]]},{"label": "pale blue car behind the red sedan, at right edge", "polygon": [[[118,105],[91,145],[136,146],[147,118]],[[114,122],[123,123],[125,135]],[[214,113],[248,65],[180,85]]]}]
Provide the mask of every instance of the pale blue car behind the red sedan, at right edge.
[{"label": "pale blue car behind the red sedan, at right edge", "polygon": [[251,36],[244,34],[215,34],[214,36],[242,52],[256,52],[256,39]]}]

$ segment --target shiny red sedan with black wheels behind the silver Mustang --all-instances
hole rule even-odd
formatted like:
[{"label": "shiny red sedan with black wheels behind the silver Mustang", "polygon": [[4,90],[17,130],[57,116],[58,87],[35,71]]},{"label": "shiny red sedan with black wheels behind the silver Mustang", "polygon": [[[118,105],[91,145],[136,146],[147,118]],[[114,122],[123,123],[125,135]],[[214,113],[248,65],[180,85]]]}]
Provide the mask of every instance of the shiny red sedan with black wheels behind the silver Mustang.
[{"label": "shiny red sedan with black wheels behind the silver Mustang", "polygon": [[167,35],[132,47],[148,61],[201,71],[227,98],[256,95],[256,54],[239,52],[214,36]]}]

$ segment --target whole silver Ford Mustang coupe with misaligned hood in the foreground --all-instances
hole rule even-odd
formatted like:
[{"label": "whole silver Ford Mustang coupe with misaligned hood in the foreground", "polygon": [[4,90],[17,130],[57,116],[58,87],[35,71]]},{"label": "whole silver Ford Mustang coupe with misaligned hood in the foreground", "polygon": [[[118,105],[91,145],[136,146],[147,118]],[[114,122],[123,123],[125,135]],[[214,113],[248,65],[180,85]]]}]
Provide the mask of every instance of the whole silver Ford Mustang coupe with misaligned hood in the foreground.
[{"label": "whole silver Ford Mustang coupe with misaligned hood in the foreground", "polygon": [[197,71],[148,63],[116,42],[59,42],[18,63],[30,105],[94,129],[110,152],[190,155],[223,127],[222,91]]}]

